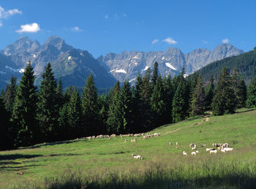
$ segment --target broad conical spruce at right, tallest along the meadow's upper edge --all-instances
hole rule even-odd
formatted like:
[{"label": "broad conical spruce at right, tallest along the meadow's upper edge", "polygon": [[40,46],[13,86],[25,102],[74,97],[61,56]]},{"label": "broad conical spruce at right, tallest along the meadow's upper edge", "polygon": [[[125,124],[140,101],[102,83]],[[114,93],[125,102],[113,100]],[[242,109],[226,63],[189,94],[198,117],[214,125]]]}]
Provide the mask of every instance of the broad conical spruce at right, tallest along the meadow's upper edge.
[{"label": "broad conical spruce at right, tallest along the meadow's upper edge", "polygon": [[229,70],[225,67],[219,75],[211,104],[214,115],[233,113],[236,107],[236,96],[233,90]]}]

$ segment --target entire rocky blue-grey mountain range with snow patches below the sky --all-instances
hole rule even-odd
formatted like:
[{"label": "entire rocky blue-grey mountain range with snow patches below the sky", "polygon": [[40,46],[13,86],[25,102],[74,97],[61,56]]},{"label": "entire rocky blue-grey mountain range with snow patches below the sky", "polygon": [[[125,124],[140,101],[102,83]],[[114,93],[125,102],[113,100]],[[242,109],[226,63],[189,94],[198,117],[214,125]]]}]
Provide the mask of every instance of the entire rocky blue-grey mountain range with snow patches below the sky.
[{"label": "entire rocky blue-grey mountain range with snow patches below the sky", "polygon": [[17,41],[0,50],[0,88],[4,88],[12,74],[20,80],[26,63],[34,67],[36,84],[48,62],[52,64],[56,78],[61,77],[64,88],[69,85],[83,88],[86,77],[94,75],[97,88],[113,87],[116,80],[134,82],[138,74],[159,63],[162,75],[178,74],[182,67],[187,74],[206,66],[213,61],[244,53],[230,44],[222,44],[211,52],[207,49],[192,50],[184,54],[178,48],[170,47],[165,52],[131,51],[121,54],[108,53],[94,58],[86,50],[79,50],[67,45],[59,36],[50,36],[42,45],[37,40],[31,41],[22,36]]}]

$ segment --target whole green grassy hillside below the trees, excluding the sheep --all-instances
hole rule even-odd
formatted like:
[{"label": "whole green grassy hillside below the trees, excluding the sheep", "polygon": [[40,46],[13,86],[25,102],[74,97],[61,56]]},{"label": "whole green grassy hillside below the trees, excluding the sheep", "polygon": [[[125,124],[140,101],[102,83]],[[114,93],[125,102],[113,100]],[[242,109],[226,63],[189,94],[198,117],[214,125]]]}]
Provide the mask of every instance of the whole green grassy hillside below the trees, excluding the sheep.
[{"label": "whole green grassy hillside below the trees, excluding the sheep", "polygon": [[[161,136],[149,139],[80,139],[0,152],[0,188],[251,188],[256,185],[255,117],[256,110],[241,109],[162,126],[151,131]],[[234,151],[210,155],[199,147],[193,157],[192,142],[206,147],[228,142]]]}]

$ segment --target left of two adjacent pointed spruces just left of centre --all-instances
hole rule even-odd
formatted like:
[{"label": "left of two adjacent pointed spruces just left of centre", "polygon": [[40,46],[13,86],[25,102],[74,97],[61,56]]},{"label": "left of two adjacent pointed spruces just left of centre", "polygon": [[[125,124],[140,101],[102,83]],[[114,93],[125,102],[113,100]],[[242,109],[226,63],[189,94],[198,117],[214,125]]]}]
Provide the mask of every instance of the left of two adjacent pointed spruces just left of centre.
[{"label": "left of two adjacent pointed spruces just left of centre", "polygon": [[107,130],[109,134],[119,134],[123,126],[121,113],[120,82],[117,81],[109,99]]}]

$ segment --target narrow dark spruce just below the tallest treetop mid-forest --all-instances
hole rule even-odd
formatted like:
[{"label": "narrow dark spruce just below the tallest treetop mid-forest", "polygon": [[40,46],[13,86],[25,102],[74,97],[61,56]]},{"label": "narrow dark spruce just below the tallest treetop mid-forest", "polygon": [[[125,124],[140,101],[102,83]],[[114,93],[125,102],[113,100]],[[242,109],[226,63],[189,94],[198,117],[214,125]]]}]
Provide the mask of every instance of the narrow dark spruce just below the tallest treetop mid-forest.
[{"label": "narrow dark spruce just below the tallest treetop mid-forest", "polygon": [[157,77],[157,82],[154,85],[151,96],[151,109],[154,117],[154,127],[160,126],[164,123],[165,115],[165,90],[162,85],[162,77]]}]

